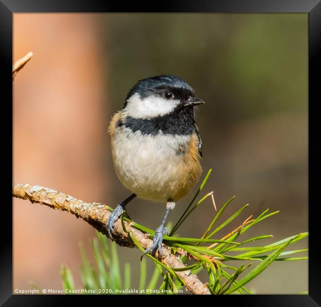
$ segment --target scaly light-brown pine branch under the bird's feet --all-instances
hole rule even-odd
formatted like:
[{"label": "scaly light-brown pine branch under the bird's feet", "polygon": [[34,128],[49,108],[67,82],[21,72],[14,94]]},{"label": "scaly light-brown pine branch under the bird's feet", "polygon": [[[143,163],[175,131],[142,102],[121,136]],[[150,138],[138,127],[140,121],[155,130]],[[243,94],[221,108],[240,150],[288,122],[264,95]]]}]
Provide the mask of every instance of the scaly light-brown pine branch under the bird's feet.
[{"label": "scaly light-brown pine branch under the bird's feet", "polygon": [[[106,205],[100,203],[84,202],[73,196],[57,192],[48,188],[40,186],[31,186],[29,184],[13,183],[12,196],[28,199],[32,203],[40,203],[49,206],[53,209],[60,209],[62,211],[68,211],[71,214],[76,215],[77,218],[81,218],[92,227],[99,230],[103,234],[107,235],[105,224],[110,216],[110,211]],[[146,234],[130,226],[130,223],[124,221],[124,225],[128,232],[132,232],[138,242],[146,249],[153,241],[146,237]],[[114,227],[115,241],[120,246],[136,247],[129,233],[125,232],[122,228],[120,219],[115,223]],[[161,261],[167,267],[180,269],[185,268],[184,264],[175,257],[173,254],[169,254],[169,247],[164,245],[164,256],[156,252],[155,257]],[[191,271],[176,271],[185,283],[185,287],[194,294],[210,294],[206,285],[204,285],[198,276],[192,274]]]}]

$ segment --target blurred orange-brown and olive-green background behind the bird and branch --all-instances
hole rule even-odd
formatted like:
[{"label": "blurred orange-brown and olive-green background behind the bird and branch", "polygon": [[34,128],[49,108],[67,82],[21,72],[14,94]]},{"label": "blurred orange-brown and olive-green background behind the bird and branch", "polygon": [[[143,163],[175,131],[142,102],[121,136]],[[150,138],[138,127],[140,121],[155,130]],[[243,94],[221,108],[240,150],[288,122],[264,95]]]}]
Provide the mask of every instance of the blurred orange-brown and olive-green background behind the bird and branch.
[{"label": "blurred orange-brown and olive-green background behind the bird and branch", "polygon": [[[204,194],[214,191],[217,206],[237,196],[225,217],[250,204],[229,230],[267,208],[281,212],[248,237],[273,234],[272,243],[308,230],[308,14],[14,14],[14,61],[29,51],[14,81],[15,181],[115,207],[129,192],[113,170],[109,120],[138,79],[177,75],[206,102],[197,112],[203,170],[213,169]],[[13,213],[13,289],[32,288],[29,280],[61,289],[61,264],[80,286],[78,242],[89,251],[95,231],[28,201],[13,199]],[[135,199],[128,213],[155,229],[164,205]],[[208,200],[179,233],[200,236],[212,218]],[[137,286],[141,252],[118,250]],[[307,291],[308,261],[276,262],[248,288]]]}]

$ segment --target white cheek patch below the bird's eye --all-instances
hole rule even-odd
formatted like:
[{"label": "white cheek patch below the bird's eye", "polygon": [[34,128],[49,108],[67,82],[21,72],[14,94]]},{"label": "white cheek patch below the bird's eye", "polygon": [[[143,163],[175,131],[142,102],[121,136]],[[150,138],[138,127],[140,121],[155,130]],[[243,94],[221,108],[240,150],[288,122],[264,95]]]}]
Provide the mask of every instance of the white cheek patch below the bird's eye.
[{"label": "white cheek patch below the bird's eye", "polygon": [[141,99],[139,94],[135,93],[127,100],[125,110],[134,118],[152,118],[172,112],[179,103],[179,100],[154,96]]}]

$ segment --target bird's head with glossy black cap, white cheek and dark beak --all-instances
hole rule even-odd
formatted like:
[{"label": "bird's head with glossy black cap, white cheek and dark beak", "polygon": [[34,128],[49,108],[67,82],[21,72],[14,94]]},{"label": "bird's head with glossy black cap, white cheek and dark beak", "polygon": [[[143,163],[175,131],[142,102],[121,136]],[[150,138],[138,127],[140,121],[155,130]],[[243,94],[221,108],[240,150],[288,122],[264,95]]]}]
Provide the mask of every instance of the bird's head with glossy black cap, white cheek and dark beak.
[{"label": "bird's head with glossy black cap, white cheek and dark beak", "polygon": [[203,103],[184,80],[162,75],[139,80],[128,92],[123,109],[134,118],[152,118]]}]

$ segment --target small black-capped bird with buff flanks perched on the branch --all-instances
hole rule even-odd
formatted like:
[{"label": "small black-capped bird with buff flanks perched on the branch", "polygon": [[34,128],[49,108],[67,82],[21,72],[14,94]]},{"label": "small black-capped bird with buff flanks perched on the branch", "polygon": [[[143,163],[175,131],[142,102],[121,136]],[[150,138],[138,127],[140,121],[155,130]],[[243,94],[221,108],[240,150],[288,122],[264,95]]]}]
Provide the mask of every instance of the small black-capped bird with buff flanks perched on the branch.
[{"label": "small black-capped bird with buff flanks perched on the branch", "polygon": [[195,107],[204,104],[180,77],[161,75],[138,80],[122,109],[113,115],[108,132],[116,175],[132,194],[111,213],[106,229],[113,239],[114,224],[136,196],[166,204],[153,243],[142,257],[158,250],[168,234],[166,220],[175,204],[201,176],[202,142]]}]

